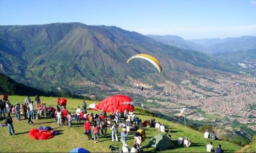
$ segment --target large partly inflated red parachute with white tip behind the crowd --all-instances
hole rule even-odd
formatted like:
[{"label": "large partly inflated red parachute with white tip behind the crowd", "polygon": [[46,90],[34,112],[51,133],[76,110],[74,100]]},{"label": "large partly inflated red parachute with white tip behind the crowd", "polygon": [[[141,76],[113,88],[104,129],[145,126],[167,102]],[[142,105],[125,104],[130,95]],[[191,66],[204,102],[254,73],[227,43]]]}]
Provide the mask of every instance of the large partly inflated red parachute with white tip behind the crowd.
[{"label": "large partly inflated red parachute with white tip behind the crowd", "polygon": [[100,101],[99,104],[91,104],[89,106],[90,110],[105,111],[110,113],[115,113],[116,110],[119,113],[123,113],[125,110],[134,111],[134,101],[129,96],[125,95],[114,95],[104,100]]}]

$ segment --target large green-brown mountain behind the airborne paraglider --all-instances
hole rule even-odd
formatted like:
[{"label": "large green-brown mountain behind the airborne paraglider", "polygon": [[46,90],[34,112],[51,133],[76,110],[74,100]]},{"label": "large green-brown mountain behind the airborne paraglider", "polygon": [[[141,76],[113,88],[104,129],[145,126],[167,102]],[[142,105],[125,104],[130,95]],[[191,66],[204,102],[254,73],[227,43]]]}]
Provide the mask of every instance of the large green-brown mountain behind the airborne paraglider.
[{"label": "large green-brown mountain behind the airborne paraglider", "polygon": [[[163,73],[145,60],[150,54]],[[38,89],[71,89],[81,82],[125,84],[127,77],[155,84],[187,74],[217,75],[228,68],[209,56],[157,42],[114,26],[82,23],[0,26],[0,72]]]}]

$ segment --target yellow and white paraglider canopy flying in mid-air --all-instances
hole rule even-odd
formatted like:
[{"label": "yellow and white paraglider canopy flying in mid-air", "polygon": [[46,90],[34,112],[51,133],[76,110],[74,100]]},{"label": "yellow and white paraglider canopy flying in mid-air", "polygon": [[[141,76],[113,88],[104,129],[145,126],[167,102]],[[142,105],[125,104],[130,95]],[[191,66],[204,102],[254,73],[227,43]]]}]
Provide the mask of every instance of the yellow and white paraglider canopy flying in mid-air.
[{"label": "yellow and white paraglider canopy flying in mid-air", "polygon": [[131,57],[126,63],[129,64],[130,61],[134,58],[141,58],[141,59],[147,60],[148,62],[151,62],[158,69],[159,73],[162,72],[162,65],[155,57],[147,54],[137,54]]}]

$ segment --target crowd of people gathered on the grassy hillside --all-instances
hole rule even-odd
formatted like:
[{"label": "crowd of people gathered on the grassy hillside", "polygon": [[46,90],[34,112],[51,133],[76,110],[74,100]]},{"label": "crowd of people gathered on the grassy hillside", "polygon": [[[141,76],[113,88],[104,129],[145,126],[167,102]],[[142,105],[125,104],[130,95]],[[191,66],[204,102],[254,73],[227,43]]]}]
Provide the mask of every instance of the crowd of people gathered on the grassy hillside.
[{"label": "crowd of people gathered on the grassy hillside", "polygon": [[[133,112],[128,112],[127,110],[123,113],[119,113],[119,110],[116,110],[115,113],[110,113],[109,116],[105,111],[101,111],[99,114],[88,113],[86,101],[83,101],[82,108],[80,109],[80,106],[78,106],[75,114],[73,114],[66,109],[66,106],[60,106],[60,97],[57,99],[56,108],[52,108],[46,106],[45,103],[41,103],[38,95],[35,96],[35,105],[36,107],[34,106],[34,101],[27,96],[24,104],[20,105],[19,103],[16,103],[13,106],[8,100],[8,95],[3,95],[2,100],[0,100],[0,117],[1,119],[5,119],[10,135],[15,135],[11,117],[11,114],[15,114],[16,120],[20,120],[20,116],[23,115],[24,119],[27,119],[29,124],[33,124],[33,120],[40,119],[41,116],[55,118],[58,126],[68,125],[69,127],[72,127],[72,120],[76,120],[76,122],[84,120],[83,132],[87,135],[88,140],[94,140],[94,143],[100,142],[100,133],[102,134],[102,137],[106,138],[106,133],[108,129],[110,129],[112,141],[122,142],[123,152],[139,152],[142,150],[144,136],[141,133],[136,132],[139,129],[140,124],[143,127],[156,128],[173,140],[172,136],[168,134],[169,132],[172,132],[172,130],[166,130],[163,123],[160,123],[153,118],[142,122],[142,120]],[[6,113],[8,114],[7,116]],[[118,129],[122,129],[122,131],[119,132]],[[131,131],[134,131],[134,146],[131,146],[131,148],[128,149],[127,137]],[[118,139],[118,137],[121,139]],[[208,130],[204,133],[204,138],[217,140],[215,132],[210,134]],[[188,137],[183,138],[183,136],[178,138],[177,143],[184,147],[190,147],[192,144]],[[212,142],[209,142],[209,144],[206,145],[206,151],[223,152],[221,144],[214,149]]]}]

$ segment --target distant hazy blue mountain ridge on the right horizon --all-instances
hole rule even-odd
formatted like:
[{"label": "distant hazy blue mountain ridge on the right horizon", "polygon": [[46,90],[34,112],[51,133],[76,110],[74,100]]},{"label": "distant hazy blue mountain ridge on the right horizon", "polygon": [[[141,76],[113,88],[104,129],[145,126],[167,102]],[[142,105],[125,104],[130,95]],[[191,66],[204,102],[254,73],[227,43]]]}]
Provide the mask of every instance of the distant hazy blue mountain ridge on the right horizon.
[{"label": "distant hazy blue mountain ridge on the right horizon", "polygon": [[211,38],[185,40],[173,35],[146,35],[156,41],[183,49],[198,50],[206,54],[223,52],[238,52],[256,48],[256,36],[242,36],[233,38]]}]

